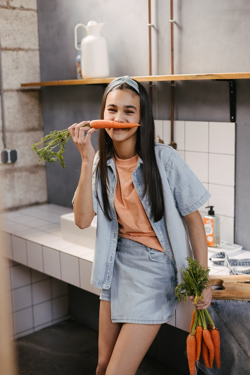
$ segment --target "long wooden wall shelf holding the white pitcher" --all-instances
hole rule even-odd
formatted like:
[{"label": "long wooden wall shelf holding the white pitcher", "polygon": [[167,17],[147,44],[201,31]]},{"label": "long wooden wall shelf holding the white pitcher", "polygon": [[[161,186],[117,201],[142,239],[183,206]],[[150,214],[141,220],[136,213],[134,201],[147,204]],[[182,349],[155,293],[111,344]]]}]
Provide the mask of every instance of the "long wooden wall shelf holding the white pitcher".
[{"label": "long wooden wall shelf holding the white pitcher", "polygon": [[[90,85],[106,84],[113,81],[113,78],[92,78],[83,80],[63,80],[47,82],[21,83],[21,87],[42,87],[42,86],[70,86],[70,85]],[[157,81],[191,81],[191,80],[239,80],[249,79],[250,72],[245,73],[211,73],[211,74],[174,74],[174,75],[151,75],[131,77],[138,82],[157,82]]]}]

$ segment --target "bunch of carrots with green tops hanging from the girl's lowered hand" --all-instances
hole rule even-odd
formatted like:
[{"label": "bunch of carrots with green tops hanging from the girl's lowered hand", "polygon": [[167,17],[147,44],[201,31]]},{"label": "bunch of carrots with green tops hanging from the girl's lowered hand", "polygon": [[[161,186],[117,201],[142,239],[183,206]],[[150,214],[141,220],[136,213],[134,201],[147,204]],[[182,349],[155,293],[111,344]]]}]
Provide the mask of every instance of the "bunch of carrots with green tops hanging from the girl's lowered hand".
[{"label": "bunch of carrots with green tops hanging from the girl's lowered hand", "polygon": [[[187,301],[188,297],[194,294],[194,303],[196,304],[198,300],[202,300],[202,290],[209,285],[209,268],[202,267],[198,260],[191,257],[186,259],[189,267],[184,267],[184,270],[181,271],[183,273],[183,282],[177,285],[175,294],[180,302],[182,291],[186,290],[183,296],[184,301]],[[187,336],[187,359],[190,375],[195,375],[195,366],[196,363],[198,366],[201,353],[207,368],[213,368],[214,360],[217,368],[220,368],[219,330],[215,327],[207,309],[198,310],[195,308],[190,324],[190,332]]]}]

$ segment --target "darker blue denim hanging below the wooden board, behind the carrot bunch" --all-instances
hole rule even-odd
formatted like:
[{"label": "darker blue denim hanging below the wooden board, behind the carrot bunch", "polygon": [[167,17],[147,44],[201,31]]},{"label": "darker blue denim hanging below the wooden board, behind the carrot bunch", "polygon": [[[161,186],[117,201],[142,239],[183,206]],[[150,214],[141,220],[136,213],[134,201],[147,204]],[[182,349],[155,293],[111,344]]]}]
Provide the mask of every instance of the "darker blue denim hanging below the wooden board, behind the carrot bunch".
[{"label": "darker blue denim hanging below the wooden board, behind the carrot bunch", "polygon": [[206,368],[201,355],[199,369],[206,375],[249,375],[250,302],[212,300],[208,311],[220,331],[221,368],[215,362]]}]

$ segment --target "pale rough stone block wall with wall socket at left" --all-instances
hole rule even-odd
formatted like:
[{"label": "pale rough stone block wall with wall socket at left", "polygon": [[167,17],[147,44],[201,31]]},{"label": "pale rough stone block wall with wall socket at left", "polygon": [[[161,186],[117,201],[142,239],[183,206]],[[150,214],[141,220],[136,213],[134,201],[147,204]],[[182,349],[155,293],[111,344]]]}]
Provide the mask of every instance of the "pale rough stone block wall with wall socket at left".
[{"label": "pale rough stone block wall with wall socket at left", "polygon": [[18,150],[18,161],[0,163],[0,207],[11,209],[47,201],[45,163],[31,144],[43,136],[39,90],[21,83],[40,81],[36,0],[0,0],[0,45],[3,113],[0,109],[0,151]]}]

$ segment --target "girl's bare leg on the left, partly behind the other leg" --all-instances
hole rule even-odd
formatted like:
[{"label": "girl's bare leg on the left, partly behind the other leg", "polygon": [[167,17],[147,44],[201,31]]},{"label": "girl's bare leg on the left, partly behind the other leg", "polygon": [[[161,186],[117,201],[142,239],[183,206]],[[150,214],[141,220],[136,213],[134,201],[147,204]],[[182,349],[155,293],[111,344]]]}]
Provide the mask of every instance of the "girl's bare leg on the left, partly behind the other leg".
[{"label": "girl's bare leg on the left, partly behind the other leg", "polygon": [[98,365],[96,375],[105,375],[122,323],[111,322],[110,302],[100,301]]}]

